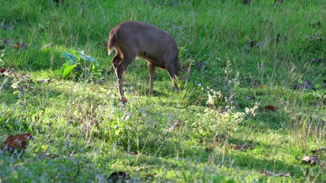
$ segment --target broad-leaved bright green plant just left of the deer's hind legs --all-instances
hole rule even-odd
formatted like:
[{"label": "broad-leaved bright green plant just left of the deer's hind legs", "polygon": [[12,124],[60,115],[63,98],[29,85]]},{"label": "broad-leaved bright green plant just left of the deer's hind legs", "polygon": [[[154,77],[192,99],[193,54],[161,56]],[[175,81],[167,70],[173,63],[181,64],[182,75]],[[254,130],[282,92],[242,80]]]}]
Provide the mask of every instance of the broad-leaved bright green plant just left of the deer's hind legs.
[{"label": "broad-leaved bright green plant just left of the deer's hind legs", "polygon": [[75,76],[77,79],[98,79],[102,76],[98,61],[90,55],[84,55],[84,51],[70,50],[63,53],[61,58],[67,60],[60,69],[63,78]]}]

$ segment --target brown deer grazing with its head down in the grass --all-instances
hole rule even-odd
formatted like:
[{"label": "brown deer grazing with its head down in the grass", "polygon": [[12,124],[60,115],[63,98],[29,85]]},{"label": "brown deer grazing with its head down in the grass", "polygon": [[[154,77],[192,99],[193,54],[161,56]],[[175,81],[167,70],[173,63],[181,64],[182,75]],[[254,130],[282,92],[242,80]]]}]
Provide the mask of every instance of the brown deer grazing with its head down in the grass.
[{"label": "brown deer grazing with its head down in the grass", "polygon": [[109,33],[108,54],[116,51],[112,64],[118,78],[118,89],[123,101],[127,101],[123,92],[123,71],[137,57],[147,61],[150,89],[153,94],[155,67],[166,69],[179,92],[176,76],[179,76],[179,50],[171,35],[164,30],[139,21],[124,21]]}]

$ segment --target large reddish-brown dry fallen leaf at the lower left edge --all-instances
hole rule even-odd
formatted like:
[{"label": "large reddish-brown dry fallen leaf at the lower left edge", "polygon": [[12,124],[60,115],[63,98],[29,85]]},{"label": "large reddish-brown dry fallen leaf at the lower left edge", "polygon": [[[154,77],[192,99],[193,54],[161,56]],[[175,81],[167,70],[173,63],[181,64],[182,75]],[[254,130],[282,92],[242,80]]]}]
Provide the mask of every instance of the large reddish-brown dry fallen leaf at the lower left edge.
[{"label": "large reddish-brown dry fallen leaf at the lower left edge", "polygon": [[11,152],[13,150],[25,150],[27,143],[31,139],[33,139],[33,136],[29,133],[10,135],[4,143],[4,149]]}]

